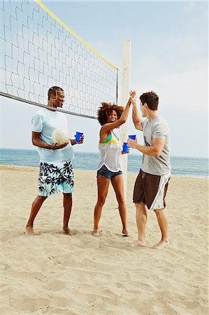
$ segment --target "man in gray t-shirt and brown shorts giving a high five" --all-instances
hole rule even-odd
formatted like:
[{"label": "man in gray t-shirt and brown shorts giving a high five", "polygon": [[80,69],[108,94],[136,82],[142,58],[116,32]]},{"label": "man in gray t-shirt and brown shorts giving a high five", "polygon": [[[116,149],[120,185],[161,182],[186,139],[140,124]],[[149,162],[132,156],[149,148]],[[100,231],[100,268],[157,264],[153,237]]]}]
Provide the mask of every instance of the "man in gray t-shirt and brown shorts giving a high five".
[{"label": "man in gray t-shirt and brown shorts giving a high five", "polygon": [[164,208],[168,181],[171,177],[170,165],[170,130],[166,120],[158,116],[159,97],[154,92],[146,92],[140,96],[140,111],[145,120],[138,114],[136,92],[130,92],[133,105],[132,118],[137,130],[143,131],[144,145],[136,140],[128,140],[131,148],[143,153],[143,162],[134,186],[134,204],[136,206],[136,223],[138,239],[129,246],[146,246],[145,226],[147,209],[153,210],[161,230],[161,240],[154,245],[160,249],[168,245],[168,221]]}]

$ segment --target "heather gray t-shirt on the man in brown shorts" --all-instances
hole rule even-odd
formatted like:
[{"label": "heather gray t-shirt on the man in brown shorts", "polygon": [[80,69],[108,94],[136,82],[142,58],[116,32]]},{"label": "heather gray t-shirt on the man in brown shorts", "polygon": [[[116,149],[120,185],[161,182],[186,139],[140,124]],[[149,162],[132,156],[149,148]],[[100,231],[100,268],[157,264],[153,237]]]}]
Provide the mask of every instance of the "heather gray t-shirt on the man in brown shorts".
[{"label": "heather gray t-shirt on the man in brown shorts", "polygon": [[164,175],[170,173],[170,130],[166,120],[161,117],[154,118],[154,120],[145,119],[142,126],[145,146],[152,146],[153,138],[166,139],[166,142],[164,150],[158,158],[143,154],[141,169],[143,172],[152,175]]}]

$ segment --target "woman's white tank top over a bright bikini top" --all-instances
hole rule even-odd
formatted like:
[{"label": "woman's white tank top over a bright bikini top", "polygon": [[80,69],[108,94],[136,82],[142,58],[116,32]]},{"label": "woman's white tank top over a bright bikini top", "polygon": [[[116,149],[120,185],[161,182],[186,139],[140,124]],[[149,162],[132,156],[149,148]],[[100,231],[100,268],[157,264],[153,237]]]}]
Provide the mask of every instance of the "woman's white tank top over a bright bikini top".
[{"label": "woman's white tank top over a bright bikini top", "polygon": [[99,142],[100,160],[97,170],[105,165],[110,172],[122,171],[122,143],[111,132],[106,141]]}]

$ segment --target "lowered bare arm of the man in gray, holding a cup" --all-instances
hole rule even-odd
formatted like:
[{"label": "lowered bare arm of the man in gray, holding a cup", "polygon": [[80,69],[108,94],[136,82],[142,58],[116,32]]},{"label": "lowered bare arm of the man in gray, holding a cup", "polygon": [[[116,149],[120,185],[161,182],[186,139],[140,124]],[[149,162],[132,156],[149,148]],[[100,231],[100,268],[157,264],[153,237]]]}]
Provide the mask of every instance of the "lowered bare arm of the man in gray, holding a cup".
[{"label": "lowered bare arm of the man in gray, holding a cup", "polygon": [[156,158],[158,158],[161,155],[161,152],[164,149],[166,139],[152,139],[152,146],[140,146],[140,144],[137,143],[137,140],[128,140],[128,145],[130,148],[136,148],[141,153],[144,153],[145,155],[151,155]]}]

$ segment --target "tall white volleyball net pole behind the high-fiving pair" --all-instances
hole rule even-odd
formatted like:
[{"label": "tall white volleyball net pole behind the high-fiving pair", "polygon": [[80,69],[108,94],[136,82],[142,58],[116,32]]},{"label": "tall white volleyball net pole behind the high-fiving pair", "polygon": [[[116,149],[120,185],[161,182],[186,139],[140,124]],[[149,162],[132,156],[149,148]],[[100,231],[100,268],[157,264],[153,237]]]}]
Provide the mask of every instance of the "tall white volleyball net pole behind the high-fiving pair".
[{"label": "tall white volleyball net pole behind the high-fiving pair", "polygon": [[[131,69],[131,41],[123,41],[123,55],[122,55],[122,83],[121,83],[121,104],[126,106],[129,99],[130,89],[130,69]],[[129,132],[129,119],[121,127],[122,141],[126,142]],[[123,179],[124,179],[124,197],[127,199],[127,164],[128,155],[123,155]]]}]

